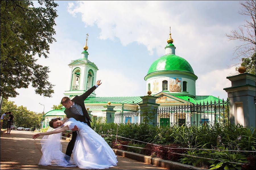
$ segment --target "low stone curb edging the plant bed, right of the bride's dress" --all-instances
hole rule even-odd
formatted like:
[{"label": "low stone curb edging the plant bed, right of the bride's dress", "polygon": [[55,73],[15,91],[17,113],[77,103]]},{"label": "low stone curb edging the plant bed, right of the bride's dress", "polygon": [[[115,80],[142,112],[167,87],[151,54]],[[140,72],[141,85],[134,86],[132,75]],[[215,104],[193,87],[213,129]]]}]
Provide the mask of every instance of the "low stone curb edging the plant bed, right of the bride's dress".
[{"label": "low stone curb edging the plant bed, right of the bride's dress", "polygon": [[[113,149],[113,148],[112,148]],[[163,160],[159,158],[151,158],[150,156],[136,154],[133,152],[128,152],[119,149],[113,149],[116,155],[124,156],[136,161],[145,162],[147,164],[156,165],[158,167],[167,168],[167,169],[200,169],[203,170],[204,168],[194,167],[192,165],[182,164],[178,162]]]}]

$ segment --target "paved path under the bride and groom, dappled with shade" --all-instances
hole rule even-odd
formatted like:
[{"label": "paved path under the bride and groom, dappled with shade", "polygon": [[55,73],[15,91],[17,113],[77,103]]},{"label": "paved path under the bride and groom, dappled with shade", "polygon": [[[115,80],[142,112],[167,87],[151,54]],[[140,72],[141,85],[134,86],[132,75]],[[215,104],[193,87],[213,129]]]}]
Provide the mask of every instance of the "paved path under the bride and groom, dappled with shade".
[{"label": "paved path under the bride and groom, dappled with shade", "polygon": [[[33,140],[34,132],[11,131],[11,134],[1,134],[0,168],[2,169],[80,169],[78,167],[56,167],[38,165],[42,156],[40,140]],[[62,140],[62,152],[65,153],[67,141]],[[110,169],[162,169],[155,165],[145,164],[122,156],[117,156],[117,167]]]}]

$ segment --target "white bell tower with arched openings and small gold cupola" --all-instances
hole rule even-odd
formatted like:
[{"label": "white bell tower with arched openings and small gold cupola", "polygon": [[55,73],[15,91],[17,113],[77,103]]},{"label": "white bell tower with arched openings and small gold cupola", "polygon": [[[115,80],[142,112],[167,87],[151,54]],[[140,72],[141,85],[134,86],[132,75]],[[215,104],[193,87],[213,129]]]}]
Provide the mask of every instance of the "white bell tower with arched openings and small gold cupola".
[{"label": "white bell tower with arched openings and small gold cupola", "polygon": [[[92,86],[96,84],[96,75],[99,70],[98,67],[88,60],[88,34],[86,34],[86,43],[84,51],[81,53],[80,59],[71,61],[69,64],[70,81],[68,90],[64,95],[72,99],[76,95],[82,95]],[[89,97],[96,97],[95,91]]]}]

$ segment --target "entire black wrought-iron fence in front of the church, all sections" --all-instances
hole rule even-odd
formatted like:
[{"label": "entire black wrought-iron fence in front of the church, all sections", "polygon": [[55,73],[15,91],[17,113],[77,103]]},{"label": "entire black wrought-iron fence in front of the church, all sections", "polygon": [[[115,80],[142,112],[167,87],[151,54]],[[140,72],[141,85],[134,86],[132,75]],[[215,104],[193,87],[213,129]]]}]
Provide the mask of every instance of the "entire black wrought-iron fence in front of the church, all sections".
[{"label": "entire black wrought-iron fence in front of the church, all sections", "polygon": [[[229,101],[219,100],[199,104],[158,107],[152,111],[151,124],[154,126],[227,126],[230,124]],[[116,124],[140,124],[141,111],[124,111],[111,114],[111,122]],[[103,117],[96,122],[104,123]]]}]

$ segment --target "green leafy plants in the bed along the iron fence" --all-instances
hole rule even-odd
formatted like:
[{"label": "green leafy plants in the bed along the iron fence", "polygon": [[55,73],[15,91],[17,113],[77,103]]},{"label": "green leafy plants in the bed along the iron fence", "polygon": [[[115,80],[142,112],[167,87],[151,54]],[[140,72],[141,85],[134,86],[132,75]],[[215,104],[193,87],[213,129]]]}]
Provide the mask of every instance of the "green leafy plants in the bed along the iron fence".
[{"label": "green leafy plants in the bed along the iron fence", "polygon": [[[92,129],[99,134],[116,135],[117,124],[110,123],[92,123]],[[245,150],[255,151],[255,128],[243,128],[242,126],[225,126],[219,124],[208,127],[154,127],[148,124],[119,124],[118,135],[160,145],[177,144],[186,148],[204,148],[216,150]],[[125,138],[117,138],[122,141],[129,141],[128,145],[142,146],[143,143],[131,141]],[[108,143],[115,142],[115,136],[104,136]],[[129,147],[128,147],[129,148]],[[129,148],[127,150],[135,153],[142,153],[141,149]],[[156,154],[156,153],[155,153]],[[192,164],[211,169],[241,169],[240,164],[245,163],[248,156],[255,156],[251,152],[230,152],[230,151],[207,151],[207,150],[187,150],[187,155],[198,156],[194,158],[183,156],[182,163]],[[164,157],[164,156],[163,156]],[[207,160],[203,158],[210,158]],[[220,162],[218,160],[223,160]]]}]

